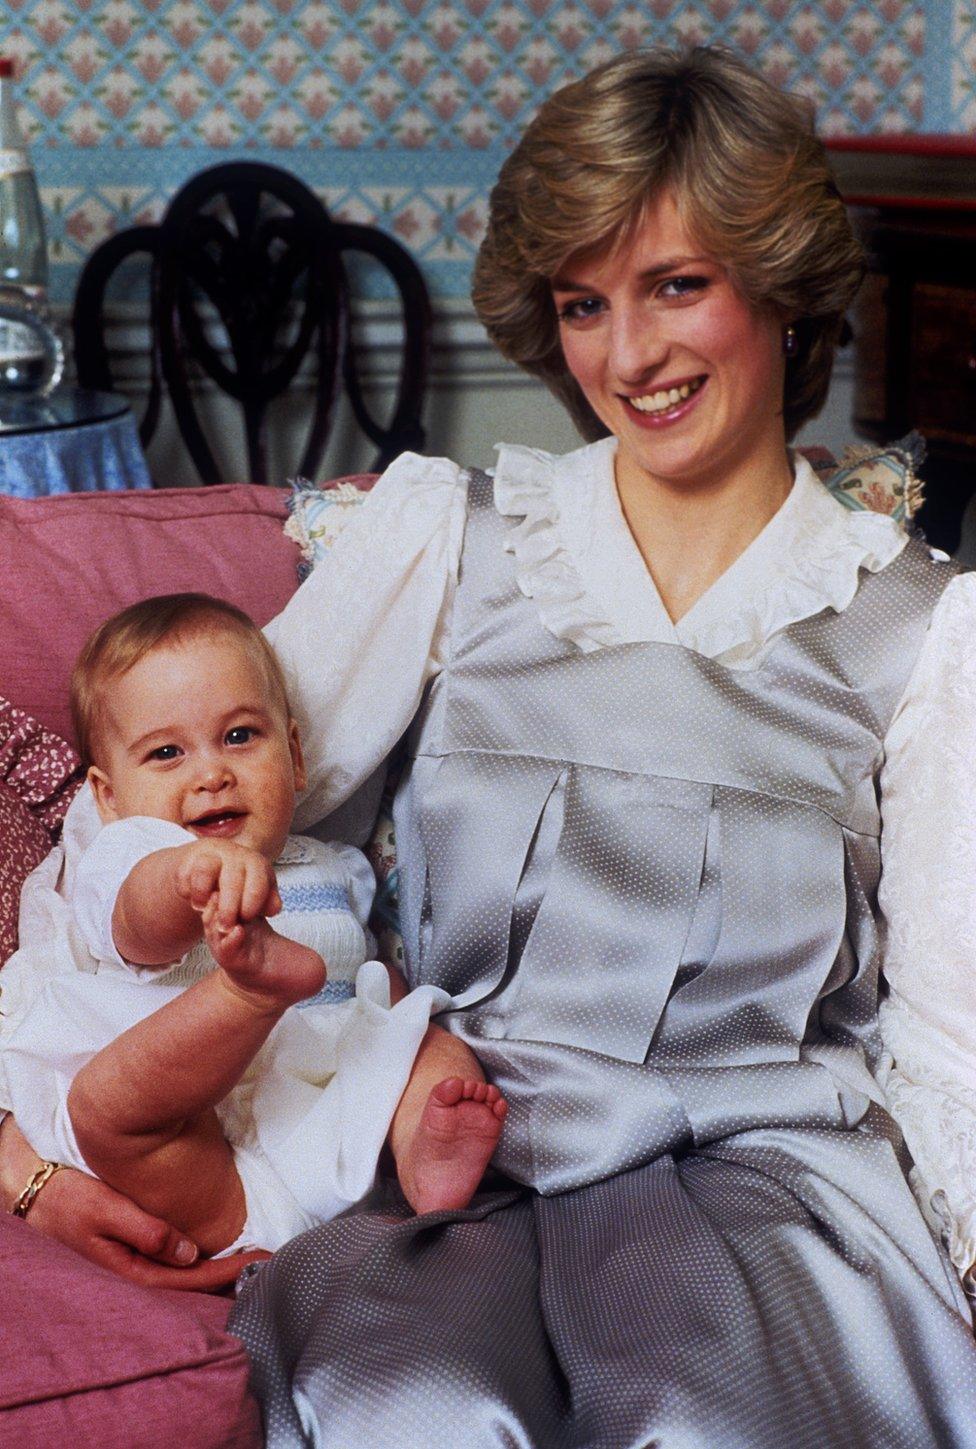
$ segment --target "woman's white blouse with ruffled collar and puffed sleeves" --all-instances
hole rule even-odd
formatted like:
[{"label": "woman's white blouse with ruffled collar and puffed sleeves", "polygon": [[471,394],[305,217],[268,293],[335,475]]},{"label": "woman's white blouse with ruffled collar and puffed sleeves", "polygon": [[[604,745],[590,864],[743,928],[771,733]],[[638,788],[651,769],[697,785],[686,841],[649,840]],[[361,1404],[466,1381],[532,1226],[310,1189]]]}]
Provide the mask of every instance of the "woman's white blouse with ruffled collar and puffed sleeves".
[{"label": "woman's white blouse with ruffled collar and puffed sleeves", "polygon": [[[624,522],[615,440],[556,458],[502,446],[495,503],[542,625],[579,649],[678,642],[754,668],[788,625],[843,611],[862,568],[905,546],[795,459],[766,527],[672,623]],[[465,526],[463,472],[405,454],[349,510],[326,561],[268,626],[301,727],[303,829],[385,759],[442,667]],[[882,1074],[922,1207],[960,1274],[976,1261],[976,574],[953,580],[885,740],[880,907],[888,922]]]}]

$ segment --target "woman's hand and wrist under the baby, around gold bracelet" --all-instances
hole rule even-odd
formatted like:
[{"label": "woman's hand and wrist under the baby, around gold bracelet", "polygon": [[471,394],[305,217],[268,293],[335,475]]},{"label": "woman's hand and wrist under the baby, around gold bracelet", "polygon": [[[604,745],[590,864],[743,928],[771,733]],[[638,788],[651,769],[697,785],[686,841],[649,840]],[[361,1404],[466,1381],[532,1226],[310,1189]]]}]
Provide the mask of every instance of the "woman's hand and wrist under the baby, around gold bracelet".
[{"label": "woman's hand and wrist under the baby, around gold bracelet", "polygon": [[[13,1117],[0,1124],[0,1204],[10,1211],[39,1158]],[[30,1206],[32,1227],[129,1282],[216,1293],[265,1252],[198,1261],[194,1243],[162,1219],[84,1172],[55,1172]]]}]

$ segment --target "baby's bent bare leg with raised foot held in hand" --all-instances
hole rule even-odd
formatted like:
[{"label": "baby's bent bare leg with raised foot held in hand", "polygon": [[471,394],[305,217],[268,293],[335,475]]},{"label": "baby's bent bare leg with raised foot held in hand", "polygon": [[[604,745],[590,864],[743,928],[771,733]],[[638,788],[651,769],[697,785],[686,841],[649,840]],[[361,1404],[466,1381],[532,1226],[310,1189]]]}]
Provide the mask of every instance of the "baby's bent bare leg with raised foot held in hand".
[{"label": "baby's bent bare leg with raised foot held in hand", "polygon": [[207,939],[219,969],[83,1066],[68,1111],[85,1162],[213,1253],[237,1237],[245,1197],[216,1104],[282,1013],[324,981],[321,956],[266,920]]}]

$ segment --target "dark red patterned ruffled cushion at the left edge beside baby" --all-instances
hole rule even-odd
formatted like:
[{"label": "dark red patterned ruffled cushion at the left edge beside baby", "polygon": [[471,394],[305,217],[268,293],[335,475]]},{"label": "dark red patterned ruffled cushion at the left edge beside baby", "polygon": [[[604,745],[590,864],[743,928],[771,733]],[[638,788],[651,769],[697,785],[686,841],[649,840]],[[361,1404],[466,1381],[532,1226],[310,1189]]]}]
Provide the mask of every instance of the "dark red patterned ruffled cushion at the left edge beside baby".
[{"label": "dark red patterned ruffled cushion at the left edge beside baby", "polygon": [[20,887],[56,840],[81,781],[71,745],[0,700],[0,962],[17,946]]}]

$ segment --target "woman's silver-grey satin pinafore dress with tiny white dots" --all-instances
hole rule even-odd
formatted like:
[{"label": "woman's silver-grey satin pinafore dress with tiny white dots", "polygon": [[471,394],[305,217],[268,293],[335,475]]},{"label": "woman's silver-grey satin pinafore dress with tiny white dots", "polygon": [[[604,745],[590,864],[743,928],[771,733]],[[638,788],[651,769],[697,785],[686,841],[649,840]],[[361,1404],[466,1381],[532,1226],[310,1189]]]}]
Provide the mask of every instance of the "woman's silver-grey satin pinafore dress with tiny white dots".
[{"label": "woman's silver-grey satin pinafore dress with tiny white dots", "polygon": [[472,474],[395,807],[405,961],[514,1187],[392,1198],[243,1287],[268,1442],[976,1446],[962,1290],[879,1051],[882,740],[953,577],[920,540],[728,671],[553,639]]}]

